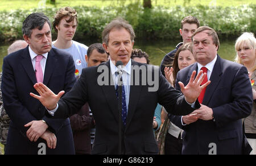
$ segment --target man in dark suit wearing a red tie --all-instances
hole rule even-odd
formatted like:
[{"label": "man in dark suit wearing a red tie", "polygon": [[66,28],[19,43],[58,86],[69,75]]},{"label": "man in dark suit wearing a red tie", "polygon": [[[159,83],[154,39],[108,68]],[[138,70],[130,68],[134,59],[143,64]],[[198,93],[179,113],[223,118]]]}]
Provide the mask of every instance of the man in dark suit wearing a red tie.
[{"label": "man in dark suit wearing a red tie", "polygon": [[200,109],[184,117],[171,115],[171,121],[184,130],[182,153],[241,154],[241,119],[250,115],[253,104],[247,69],[217,55],[220,43],[212,28],[199,27],[192,40],[197,63],[180,70],[176,87],[179,81],[187,84],[194,70],[204,70],[204,81],[211,84],[199,96]]}]

